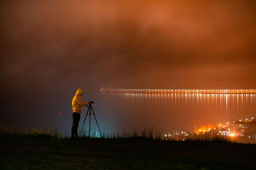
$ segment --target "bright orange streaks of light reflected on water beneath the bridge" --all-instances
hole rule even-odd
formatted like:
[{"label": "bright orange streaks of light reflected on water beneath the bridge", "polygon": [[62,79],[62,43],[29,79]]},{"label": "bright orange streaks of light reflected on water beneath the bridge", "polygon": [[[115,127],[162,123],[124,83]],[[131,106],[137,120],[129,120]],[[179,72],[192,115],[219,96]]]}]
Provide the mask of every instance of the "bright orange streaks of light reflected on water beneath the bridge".
[{"label": "bright orange streaks of light reflected on water beneath the bridge", "polygon": [[170,105],[175,107],[216,107],[219,110],[244,110],[246,107],[255,108],[255,94],[111,94],[122,96],[130,104]]}]

